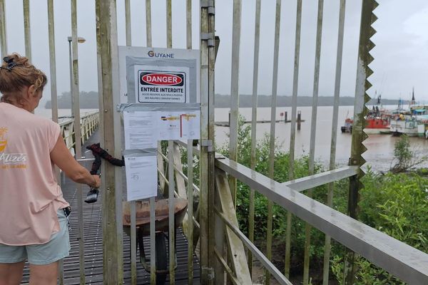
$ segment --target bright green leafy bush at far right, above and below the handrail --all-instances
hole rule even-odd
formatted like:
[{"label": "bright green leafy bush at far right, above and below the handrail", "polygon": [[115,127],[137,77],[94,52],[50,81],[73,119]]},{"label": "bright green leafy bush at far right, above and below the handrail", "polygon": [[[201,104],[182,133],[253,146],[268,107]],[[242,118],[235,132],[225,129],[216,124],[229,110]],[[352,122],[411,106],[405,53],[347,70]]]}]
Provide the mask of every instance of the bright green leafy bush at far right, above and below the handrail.
[{"label": "bright green leafy bush at far right, above and below the handrail", "polygon": [[[363,178],[360,220],[411,247],[428,252],[428,179],[414,173],[377,175],[369,171]],[[336,255],[332,271],[343,279],[343,260]],[[403,284],[402,281],[357,257],[356,285]]]}]

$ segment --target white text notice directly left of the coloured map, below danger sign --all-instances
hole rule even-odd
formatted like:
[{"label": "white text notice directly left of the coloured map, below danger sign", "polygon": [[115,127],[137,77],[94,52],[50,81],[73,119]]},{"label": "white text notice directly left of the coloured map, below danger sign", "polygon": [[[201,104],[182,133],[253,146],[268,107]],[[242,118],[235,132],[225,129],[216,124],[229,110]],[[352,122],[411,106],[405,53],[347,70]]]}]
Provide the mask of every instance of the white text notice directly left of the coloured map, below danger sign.
[{"label": "white text notice directly left of the coloured map, below danger sign", "polygon": [[156,112],[123,112],[126,150],[157,147]]}]

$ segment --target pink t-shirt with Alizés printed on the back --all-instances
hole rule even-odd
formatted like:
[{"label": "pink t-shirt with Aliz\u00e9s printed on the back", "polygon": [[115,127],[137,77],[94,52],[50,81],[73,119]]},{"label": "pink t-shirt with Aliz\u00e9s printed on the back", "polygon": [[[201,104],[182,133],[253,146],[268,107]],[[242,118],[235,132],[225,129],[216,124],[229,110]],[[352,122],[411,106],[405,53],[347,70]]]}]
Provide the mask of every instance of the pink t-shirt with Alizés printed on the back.
[{"label": "pink t-shirt with Aliz\u00e9s printed on the back", "polygon": [[59,231],[56,211],[67,207],[50,153],[59,125],[0,103],[0,243],[44,244]]}]

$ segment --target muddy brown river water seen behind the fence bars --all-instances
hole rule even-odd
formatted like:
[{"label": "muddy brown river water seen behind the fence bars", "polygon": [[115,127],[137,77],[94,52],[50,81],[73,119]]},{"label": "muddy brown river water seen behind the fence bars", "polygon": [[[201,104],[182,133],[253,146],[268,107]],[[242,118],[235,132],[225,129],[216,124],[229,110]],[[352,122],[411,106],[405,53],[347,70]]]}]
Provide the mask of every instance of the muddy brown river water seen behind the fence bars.
[{"label": "muddy brown river water seen behind the fence bars", "polygon": [[[386,108],[393,109],[395,106],[385,106]],[[95,109],[81,109],[81,115],[91,112]],[[227,121],[229,108],[216,108],[215,121]],[[302,113],[302,128],[296,132],[295,140],[295,155],[300,157],[309,154],[310,145],[310,125],[312,108],[311,107],[298,107]],[[315,144],[315,159],[322,165],[328,165],[330,161],[330,143],[332,133],[332,106],[320,106],[317,111],[317,135]],[[276,112],[276,119],[281,120],[280,113],[287,112],[288,119],[291,118],[291,108],[278,107]],[[35,110],[37,115],[51,118],[51,110],[44,108],[37,108]],[[59,109],[59,116],[71,115],[70,109]],[[348,158],[351,151],[351,135],[350,133],[341,133],[340,127],[344,124],[345,118],[352,116],[353,106],[340,106],[339,107],[339,122],[337,125],[337,147],[336,147],[336,163],[339,166],[347,165]],[[240,114],[246,120],[251,120],[251,108],[240,108]],[[270,108],[258,108],[258,120],[270,120]],[[275,137],[277,142],[280,143],[282,150],[288,151],[290,149],[290,123],[276,123],[275,124]],[[225,145],[228,143],[229,128],[215,127],[215,144]],[[262,139],[265,134],[270,134],[270,123],[259,123],[257,126],[257,138]],[[367,152],[363,155],[367,160],[367,165],[370,165],[375,171],[387,171],[391,167],[394,158],[394,143],[399,138],[392,137],[392,135],[369,135],[365,140]],[[423,157],[428,155],[428,140],[423,138],[409,138],[412,150],[416,153],[416,157]],[[424,162],[422,167],[428,167],[428,162]]]}]

